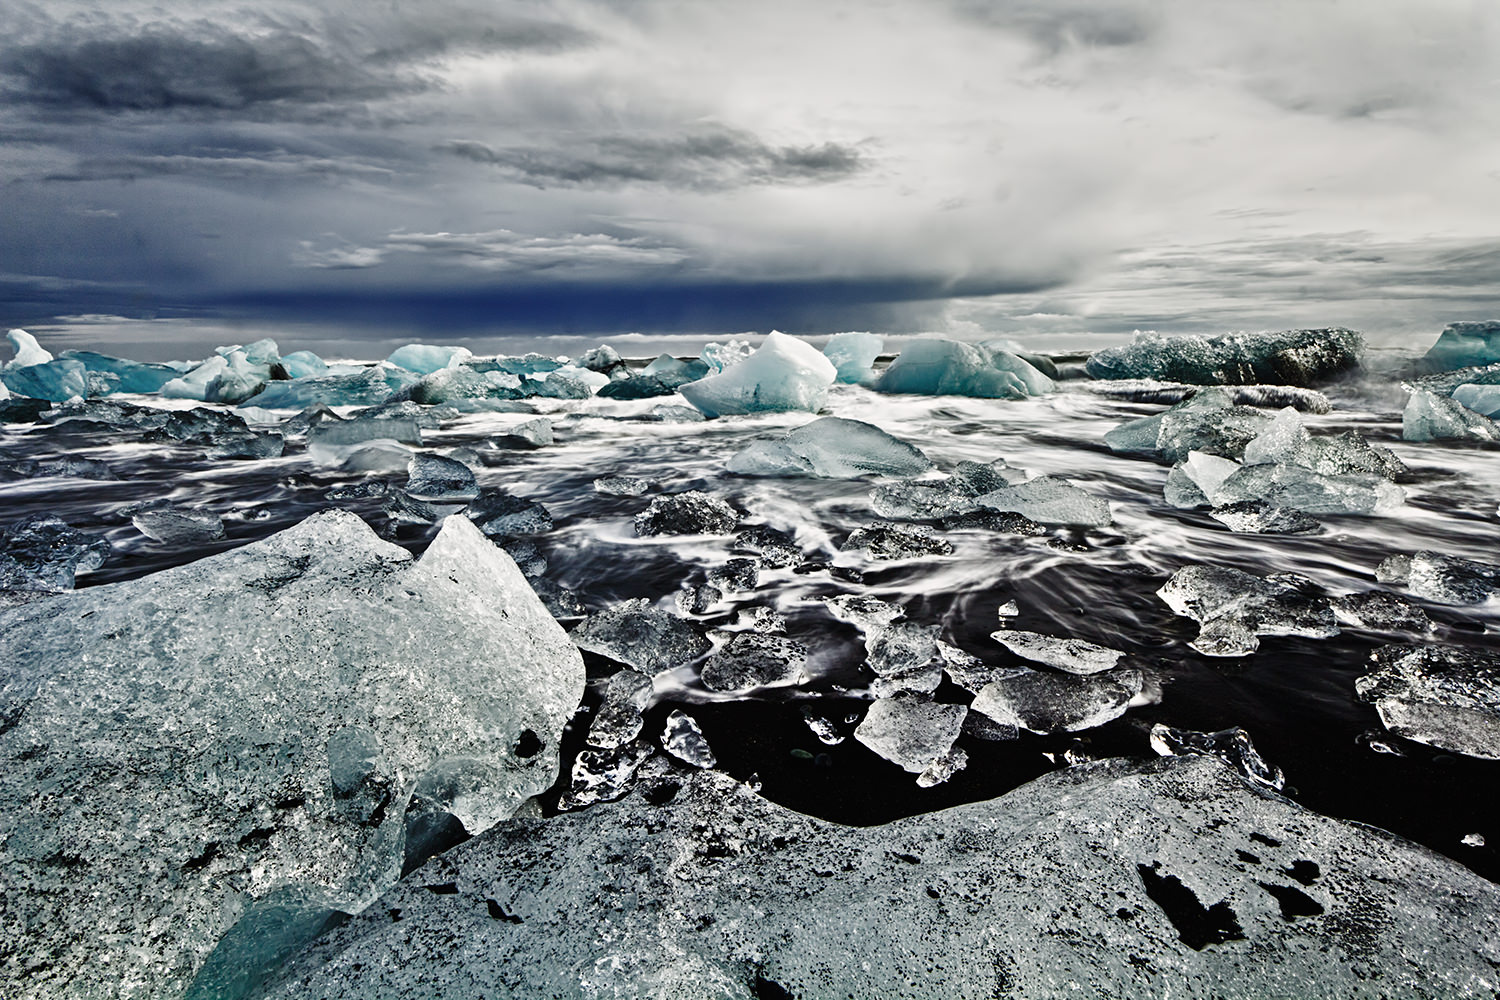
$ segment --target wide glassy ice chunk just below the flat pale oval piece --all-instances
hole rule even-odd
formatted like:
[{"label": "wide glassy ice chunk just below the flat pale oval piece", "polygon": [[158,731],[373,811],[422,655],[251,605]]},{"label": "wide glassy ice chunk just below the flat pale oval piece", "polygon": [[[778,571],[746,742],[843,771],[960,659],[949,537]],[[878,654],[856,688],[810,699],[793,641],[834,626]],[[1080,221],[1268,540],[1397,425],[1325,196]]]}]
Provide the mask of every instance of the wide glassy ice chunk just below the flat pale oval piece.
[{"label": "wide glassy ice chunk just below the flat pale oval piece", "polygon": [[1010,670],[974,697],[975,712],[1034,733],[1077,733],[1119,718],[1140,694],[1140,670],[1074,675]]}]

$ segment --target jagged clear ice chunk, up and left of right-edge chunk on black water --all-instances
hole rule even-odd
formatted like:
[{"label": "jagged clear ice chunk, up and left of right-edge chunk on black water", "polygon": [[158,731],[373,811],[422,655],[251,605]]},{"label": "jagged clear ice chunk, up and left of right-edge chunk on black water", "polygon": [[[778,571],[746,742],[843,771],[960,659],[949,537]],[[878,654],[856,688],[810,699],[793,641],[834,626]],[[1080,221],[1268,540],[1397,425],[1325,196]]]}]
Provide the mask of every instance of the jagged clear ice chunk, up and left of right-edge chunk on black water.
[{"label": "jagged clear ice chunk, up and left of right-edge chunk on black water", "polygon": [[1293,574],[1251,576],[1214,565],[1188,565],[1156,591],[1174,615],[1198,622],[1190,645],[1206,657],[1248,657],[1260,636],[1338,634],[1328,598]]}]

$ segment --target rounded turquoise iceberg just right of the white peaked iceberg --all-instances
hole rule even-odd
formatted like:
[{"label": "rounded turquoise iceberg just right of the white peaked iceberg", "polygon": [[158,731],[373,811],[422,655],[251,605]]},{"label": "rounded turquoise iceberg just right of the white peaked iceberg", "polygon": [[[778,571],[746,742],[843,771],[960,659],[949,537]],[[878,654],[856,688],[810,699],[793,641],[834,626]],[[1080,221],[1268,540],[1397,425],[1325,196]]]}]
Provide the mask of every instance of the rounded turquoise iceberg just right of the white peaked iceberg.
[{"label": "rounded turquoise iceberg just right of the white peaked iceberg", "polygon": [[1022,357],[992,345],[914,340],[874,381],[879,393],[1024,399],[1054,384]]}]

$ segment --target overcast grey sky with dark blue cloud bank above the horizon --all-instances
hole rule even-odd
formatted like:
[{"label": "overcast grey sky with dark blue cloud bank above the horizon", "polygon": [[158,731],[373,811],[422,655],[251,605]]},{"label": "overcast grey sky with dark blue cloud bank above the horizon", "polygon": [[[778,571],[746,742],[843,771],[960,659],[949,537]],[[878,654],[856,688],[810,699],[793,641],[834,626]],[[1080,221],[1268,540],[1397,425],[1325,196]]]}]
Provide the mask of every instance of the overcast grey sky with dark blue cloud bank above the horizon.
[{"label": "overcast grey sky with dark blue cloud bank above the horizon", "polygon": [[1500,315],[1490,1],[0,0],[0,325],[1041,346]]}]

